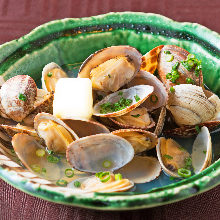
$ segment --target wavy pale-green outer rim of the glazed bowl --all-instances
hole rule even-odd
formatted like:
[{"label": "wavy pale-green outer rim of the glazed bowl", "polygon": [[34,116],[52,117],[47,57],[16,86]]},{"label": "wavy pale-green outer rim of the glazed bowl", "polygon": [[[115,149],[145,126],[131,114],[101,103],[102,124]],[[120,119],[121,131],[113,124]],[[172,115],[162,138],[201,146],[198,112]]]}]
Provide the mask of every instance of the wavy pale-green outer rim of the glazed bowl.
[{"label": "wavy pale-green outer rim of the glazed bowl", "polygon": [[[166,29],[175,29],[184,31],[200,39],[208,42],[210,45],[220,50],[220,35],[210,29],[190,22],[176,22],[165,16],[154,13],[143,12],[111,12],[103,15],[97,15],[85,18],[65,18],[54,20],[42,24],[33,29],[27,35],[7,42],[0,46],[0,54],[4,51],[4,56],[0,55],[1,62],[4,57],[12,54],[17,48],[26,43],[42,37],[42,31],[45,35],[48,33],[56,33],[68,28],[77,26],[99,25],[98,21],[102,20],[102,24],[106,22],[130,22],[135,23],[139,20],[142,24],[151,24],[157,27],[165,27]],[[119,19],[119,20],[118,20]],[[163,22],[161,22],[161,20]],[[136,22],[137,23],[137,22]],[[62,25],[61,25],[62,24]],[[177,26],[177,27],[176,27]],[[208,40],[207,40],[208,38]],[[6,52],[5,52],[6,51]],[[1,162],[1,161],[0,161]],[[67,204],[84,208],[99,209],[99,210],[132,210],[143,209],[147,207],[155,207],[164,204],[173,203],[186,198],[190,198],[201,192],[205,192],[220,183],[220,159],[213,163],[210,167],[201,173],[164,187],[152,189],[149,192],[135,195],[125,194],[102,194],[93,193],[88,196],[68,195],[59,192],[54,192],[52,188],[43,184],[37,184],[29,181],[27,178],[17,175],[15,171],[10,170],[7,166],[0,163],[0,177],[17,189],[20,189],[32,196],[46,199],[59,204]],[[16,178],[15,178],[16,177]]]}]

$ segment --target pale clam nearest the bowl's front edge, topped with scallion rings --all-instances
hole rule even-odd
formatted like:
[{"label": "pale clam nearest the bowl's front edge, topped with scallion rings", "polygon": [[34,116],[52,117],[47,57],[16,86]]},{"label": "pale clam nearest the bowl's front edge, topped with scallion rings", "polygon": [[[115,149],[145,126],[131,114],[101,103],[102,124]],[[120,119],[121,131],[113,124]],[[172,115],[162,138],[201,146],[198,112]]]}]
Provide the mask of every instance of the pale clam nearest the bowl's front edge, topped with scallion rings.
[{"label": "pale clam nearest the bowl's front edge, topped with scallion rings", "polygon": [[[101,182],[101,180],[96,176],[84,177],[76,179],[75,181],[68,184],[68,187],[74,189],[76,193],[89,193],[89,192],[124,192],[131,189],[134,186],[134,183],[128,179],[116,180],[115,175],[110,173],[108,174],[110,179],[107,182]],[[76,181],[79,187],[76,187]]]}]

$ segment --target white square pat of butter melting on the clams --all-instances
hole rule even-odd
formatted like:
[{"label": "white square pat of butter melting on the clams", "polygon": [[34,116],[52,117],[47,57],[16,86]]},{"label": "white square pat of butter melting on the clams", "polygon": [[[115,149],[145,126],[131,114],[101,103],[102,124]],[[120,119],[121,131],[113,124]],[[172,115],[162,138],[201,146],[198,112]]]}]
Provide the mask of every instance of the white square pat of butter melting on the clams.
[{"label": "white square pat of butter melting on the clams", "polygon": [[56,84],[53,114],[61,119],[90,119],[92,83],[88,78],[61,78]]}]

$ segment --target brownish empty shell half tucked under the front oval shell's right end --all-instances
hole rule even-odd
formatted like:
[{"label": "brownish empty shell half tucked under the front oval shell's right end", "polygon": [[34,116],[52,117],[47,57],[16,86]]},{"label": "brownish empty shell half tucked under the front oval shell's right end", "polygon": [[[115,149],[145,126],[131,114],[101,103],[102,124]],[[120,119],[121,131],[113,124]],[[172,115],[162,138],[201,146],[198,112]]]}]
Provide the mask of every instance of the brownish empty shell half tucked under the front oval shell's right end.
[{"label": "brownish empty shell half tucked under the front oval shell's right end", "polygon": [[134,183],[147,183],[160,175],[161,165],[155,157],[135,156],[130,163],[118,172]]}]

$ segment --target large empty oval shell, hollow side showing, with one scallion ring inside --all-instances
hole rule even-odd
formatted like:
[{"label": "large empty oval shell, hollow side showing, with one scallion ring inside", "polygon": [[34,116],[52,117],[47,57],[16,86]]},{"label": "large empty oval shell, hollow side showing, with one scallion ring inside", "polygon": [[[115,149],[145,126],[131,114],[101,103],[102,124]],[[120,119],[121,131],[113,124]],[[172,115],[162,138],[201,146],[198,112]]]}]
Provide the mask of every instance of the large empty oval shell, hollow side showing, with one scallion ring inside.
[{"label": "large empty oval shell, hollow side showing, with one scallion ring inside", "polygon": [[97,134],[71,143],[67,147],[66,156],[73,168],[97,173],[123,167],[132,160],[134,149],[124,138],[112,134]]}]

